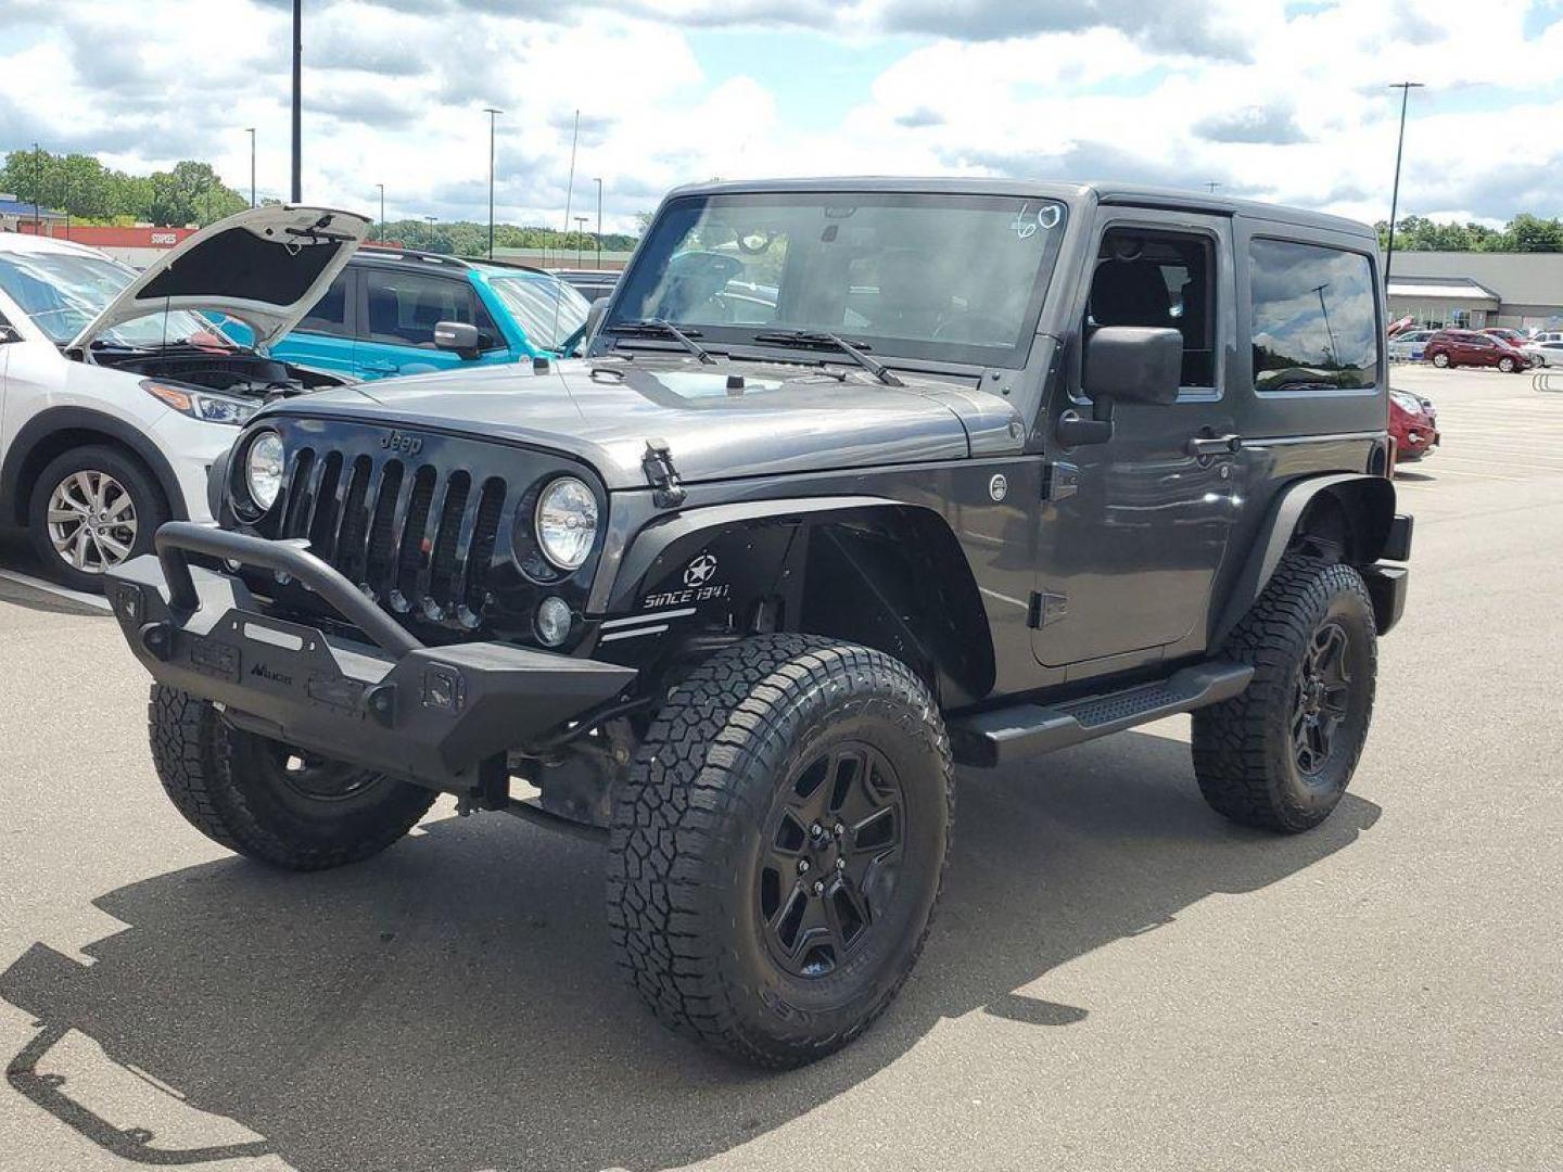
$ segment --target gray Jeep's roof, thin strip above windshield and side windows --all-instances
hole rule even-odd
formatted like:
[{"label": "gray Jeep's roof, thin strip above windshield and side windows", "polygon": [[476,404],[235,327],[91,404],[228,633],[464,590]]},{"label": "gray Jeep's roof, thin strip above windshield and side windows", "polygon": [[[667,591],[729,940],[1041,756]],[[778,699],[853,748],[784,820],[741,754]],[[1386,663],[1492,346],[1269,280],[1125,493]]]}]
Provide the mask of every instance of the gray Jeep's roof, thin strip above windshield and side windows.
[{"label": "gray Jeep's roof, thin strip above windshield and side windows", "polygon": [[738,195],[744,192],[821,192],[821,191],[861,191],[861,192],[908,192],[908,194],[946,194],[946,195],[1016,195],[1032,198],[1061,200],[1078,205],[1093,195],[1102,203],[1121,203],[1136,208],[1174,208],[1179,211],[1199,211],[1213,216],[1247,216],[1275,223],[1293,223],[1302,228],[1325,228],[1329,231],[1366,236],[1377,241],[1377,231],[1343,216],[1329,216],[1321,211],[1304,208],[1286,208],[1279,203],[1261,203],[1258,200],[1235,200],[1227,195],[1214,195],[1208,191],[1182,191],[1179,188],[1149,188],[1135,183],[1043,183],[1036,180],[1000,180],[985,177],[928,177],[899,178],[885,175],[846,175],[839,178],[808,178],[808,180],[730,180],[721,183],[691,183],[675,188],[669,198],[677,195]]}]

